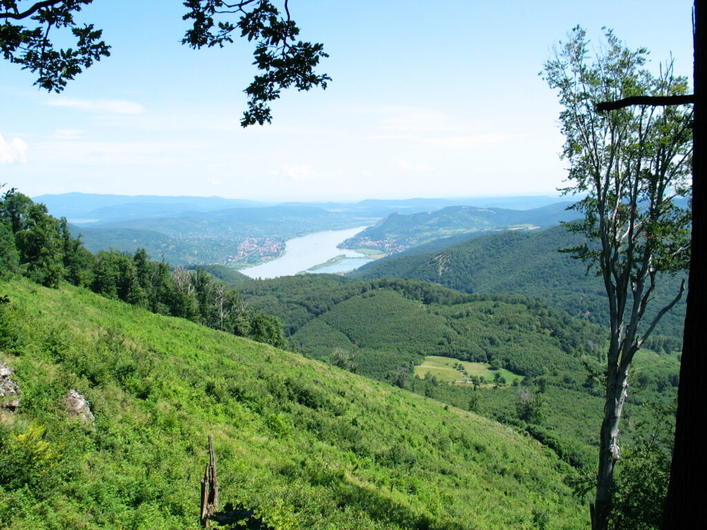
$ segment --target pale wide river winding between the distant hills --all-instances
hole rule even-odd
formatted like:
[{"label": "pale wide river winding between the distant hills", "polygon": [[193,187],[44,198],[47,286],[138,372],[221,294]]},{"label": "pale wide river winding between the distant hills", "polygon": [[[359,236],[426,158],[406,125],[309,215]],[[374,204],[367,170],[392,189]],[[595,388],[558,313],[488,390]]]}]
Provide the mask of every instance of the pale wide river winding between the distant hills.
[{"label": "pale wide river winding between the distant hills", "polygon": [[324,232],[315,232],[303,237],[295,237],[285,242],[285,253],[278,259],[255,267],[240,269],[239,272],[251,278],[291,276],[298,272],[307,271],[310,267],[325,263],[329,259],[341,256],[341,254],[344,254],[346,258],[338,264],[309,272],[337,273],[358,269],[361,265],[373,260],[353,250],[339,249],[337,245],[365,228],[365,226],[359,226],[357,228],[346,228],[345,230],[325,230]]}]

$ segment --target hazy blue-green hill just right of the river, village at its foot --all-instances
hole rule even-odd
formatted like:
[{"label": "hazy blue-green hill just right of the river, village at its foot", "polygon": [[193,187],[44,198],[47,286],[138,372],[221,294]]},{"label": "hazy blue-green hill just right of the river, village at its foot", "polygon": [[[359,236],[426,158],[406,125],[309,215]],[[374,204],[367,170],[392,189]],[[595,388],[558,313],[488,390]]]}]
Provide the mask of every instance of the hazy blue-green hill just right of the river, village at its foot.
[{"label": "hazy blue-green hill just right of the river, village at its foot", "polygon": [[373,248],[388,254],[402,252],[409,247],[443,237],[494,230],[534,230],[571,220],[566,211],[570,203],[556,203],[531,210],[506,208],[477,208],[476,206],[448,206],[438,211],[403,215],[392,213],[360,234],[346,240],[345,248]]}]

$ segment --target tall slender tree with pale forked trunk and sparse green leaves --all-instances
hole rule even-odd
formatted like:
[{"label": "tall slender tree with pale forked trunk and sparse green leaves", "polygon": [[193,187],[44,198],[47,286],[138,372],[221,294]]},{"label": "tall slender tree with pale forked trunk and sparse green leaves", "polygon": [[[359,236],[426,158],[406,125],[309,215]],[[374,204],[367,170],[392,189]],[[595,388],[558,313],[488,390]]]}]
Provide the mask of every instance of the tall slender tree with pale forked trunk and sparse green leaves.
[{"label": "tall slender tree with pale forked trunk and sparse green leaves", "polygon": [[660,273],[674,273],[688,262],[690,221],[689,211],[674,199],[689,196],[691,111],[639,105],[601,114],[595,108],[598,102],[633,95],[684,95],[687,81],[674,76],[672,64],[658,76],[643,69],[648,52],[628,49],[611,30],[606,41],[606,50],[592,62],[585,31],[575,28],[544,69],[564,107],[563,158],[570,163],[571,181],[565,192],[586,194],[573,206],[584,214],[583,222],[568,228],[588,242],[570,251],[597,267],[609,298],[611,334],[594,530],[607,528],[633,356],[681,298],[682,286],[650,322],[641,321]]}]

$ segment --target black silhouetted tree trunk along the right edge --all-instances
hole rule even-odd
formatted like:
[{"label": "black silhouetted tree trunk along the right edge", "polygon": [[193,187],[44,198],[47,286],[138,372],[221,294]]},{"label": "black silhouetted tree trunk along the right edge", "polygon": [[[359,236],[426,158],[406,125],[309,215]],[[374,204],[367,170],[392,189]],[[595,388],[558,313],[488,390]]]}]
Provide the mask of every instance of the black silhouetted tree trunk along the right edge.
[{"label": "black silhouetted tree trunk along the right edge", "polygon": [[692,160],[692,245],[680,384],[677,391],[675,445],[662,530],[694,528],[707,520],[707,502],[704,498],[704,481],[707,476],[704,442],[707,432],[703,416],[707,408],[707,394],[702,381],[707,370],[704,352],[707,314],[707,0],[695,1],[694,17],[696,102]]}]

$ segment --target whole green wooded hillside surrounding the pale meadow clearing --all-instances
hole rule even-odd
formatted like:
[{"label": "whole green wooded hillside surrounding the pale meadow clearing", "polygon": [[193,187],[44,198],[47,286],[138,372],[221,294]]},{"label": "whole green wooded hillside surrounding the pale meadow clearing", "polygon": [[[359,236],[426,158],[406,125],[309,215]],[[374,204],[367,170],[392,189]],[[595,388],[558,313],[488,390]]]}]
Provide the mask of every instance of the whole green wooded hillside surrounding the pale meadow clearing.
[{"label": "whole green wooded hillside surrounding the pale meadow clearing", "polygon": [[[598,326],[539,300],[464,295],[421,281],[295,276],[253,281],[241,293],[282,319],[298,351],[525,430],[569,464],[595,469],[608,336]],[[468,371],[460,384],[458,369],[457,377],[423,374],[421,365],[440,357],[491,370],[477,384]],[[672,404],[678,372],[677,354],[639,352],[626,447],[640,446],[653,405]]]}]

